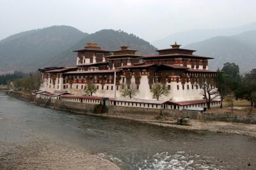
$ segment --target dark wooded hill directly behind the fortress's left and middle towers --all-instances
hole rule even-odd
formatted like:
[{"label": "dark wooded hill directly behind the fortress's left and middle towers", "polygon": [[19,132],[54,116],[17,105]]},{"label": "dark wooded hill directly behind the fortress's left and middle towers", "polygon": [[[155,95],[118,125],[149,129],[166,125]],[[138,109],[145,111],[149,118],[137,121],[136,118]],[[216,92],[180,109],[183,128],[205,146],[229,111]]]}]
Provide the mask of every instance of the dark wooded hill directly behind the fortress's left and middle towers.
[{"label": "dark wooded hill directly behind the fortress's left and middle towers", "polygon": [[103,29],[84,37],[68,50],[53,57],[51,63],[45,64],[47,64],[47,66],[74,65],[76,63],[76,53],[72,52],[72,50],[83,49],[89,41],[94,41],[103,49],[110,51],[118,50],[121,45],[125,44],[129,46],[129,48],[138,50],[137,53],[141,55],[156,53],[156,48],[154,46],[150,45],[147,41],[138,38],[138,36],[135,36],[134,34],[128,34],[124,31],[114,31],[113,29]]}]

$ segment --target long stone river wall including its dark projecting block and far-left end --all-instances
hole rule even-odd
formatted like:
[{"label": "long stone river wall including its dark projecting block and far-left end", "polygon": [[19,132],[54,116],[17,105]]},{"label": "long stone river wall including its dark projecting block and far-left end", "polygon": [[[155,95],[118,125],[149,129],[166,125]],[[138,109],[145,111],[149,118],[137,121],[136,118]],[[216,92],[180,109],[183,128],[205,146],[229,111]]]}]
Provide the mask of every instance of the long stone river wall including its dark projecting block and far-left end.
[{"label": "long stone river wall including its dark projecting block and far-left end", "polygon": [[108,113],[115,115],[116,113],[133,114],[143,116],[160,116],[173,117],[173,118],[195,118],[198,120],[215,120],[224,122],[238,122],[246,124],[256,124],[256,115],[232,115],[232,113],[209,113],[200,111],[187,111],[187,110],[169,110],[169,109],[156,109],[156,108],[135,108],[127,106],[109,106],[102,108],[99,104],[77,103],[70,101],[60,101],[56,99],[35,99],[35,96],[24,94],[21,92],[8,92],[10,96],[24,99],[26,101],[35,101],[40,106],[47,106],[60,110],[70,111],[74,113]]}]

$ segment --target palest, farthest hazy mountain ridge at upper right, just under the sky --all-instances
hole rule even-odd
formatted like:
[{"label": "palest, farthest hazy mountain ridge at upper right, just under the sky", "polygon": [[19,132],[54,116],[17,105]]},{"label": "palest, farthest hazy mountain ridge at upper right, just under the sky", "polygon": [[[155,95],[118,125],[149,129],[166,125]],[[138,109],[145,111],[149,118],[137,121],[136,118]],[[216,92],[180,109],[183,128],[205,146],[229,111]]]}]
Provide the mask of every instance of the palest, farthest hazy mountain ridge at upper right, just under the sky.
[{"label": "palest, farthest hazy mountain ridge at upper right, just under the sky", "polygon": [[166,38],[153,41],[152,44],[157,48],[166,48],[170,43],[177,41],[181,45],[188,45],[205,39],[213,38],[215,36],[233,36],[245,31],[252,31],[256,29],[256,22],[251,24],[241,25],[239,27],[232,27],[227,29],[193,29],[190,31],[177,32],[171,34]]}]

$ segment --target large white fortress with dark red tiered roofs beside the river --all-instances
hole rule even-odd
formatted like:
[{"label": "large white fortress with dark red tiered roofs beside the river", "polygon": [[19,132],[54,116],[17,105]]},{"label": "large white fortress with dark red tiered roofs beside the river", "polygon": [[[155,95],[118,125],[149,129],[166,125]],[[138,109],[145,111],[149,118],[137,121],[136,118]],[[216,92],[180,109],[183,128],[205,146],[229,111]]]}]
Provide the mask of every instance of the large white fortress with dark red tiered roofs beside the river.
[{"label": "large white fortress with dark red tiered roofs beside the river", "polygon": [[[161,108],[168,104],[169,108],[180,110],[206,106],[197,82],[202,77],[215,80],[216,71],[208,69],[208,60],[213,58],[194,55],[195,50],[180,48],[176,42],[170,48],[156,51],[157,55],[141,56],[123,45],[120,50],[110,52],[90,42],[83,49],[74,51],[77,52],[76,66],[39,69],[42,73],[40,90],[49,94],[72,94],[62,96],[67,101],[68,97],[75,96],[86,99],[86,85],[93,83],[97,87],[93,96],[108,97],[115,105],[123,104],[122,101],[141,103],[142,106],[146,103],[145,107],[147,103],[165,103]],[[134,99],[124,99],[120,90],[131,83],[136,85],[138,94]],[[150,89],[154,83],[166,85],[169,95],[161,96],[160,101],[153,99]],[[218,104],[219,101],[212,101],[212,106]]]}]

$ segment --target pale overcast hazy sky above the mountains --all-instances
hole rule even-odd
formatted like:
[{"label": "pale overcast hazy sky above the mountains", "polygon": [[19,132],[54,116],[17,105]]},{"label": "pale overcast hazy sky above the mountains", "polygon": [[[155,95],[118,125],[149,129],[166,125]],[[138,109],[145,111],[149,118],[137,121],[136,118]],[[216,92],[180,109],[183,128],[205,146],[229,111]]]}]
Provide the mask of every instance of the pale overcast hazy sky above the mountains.
[{"label": "pale overcast hazy sky above the mountains", "polygon": [[70,25],[83,32],[122,29],[147,41],[190,29],[256,22],[255,0],[0,0],[0,39]]}]

